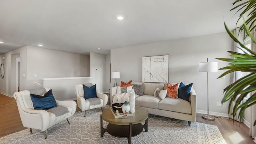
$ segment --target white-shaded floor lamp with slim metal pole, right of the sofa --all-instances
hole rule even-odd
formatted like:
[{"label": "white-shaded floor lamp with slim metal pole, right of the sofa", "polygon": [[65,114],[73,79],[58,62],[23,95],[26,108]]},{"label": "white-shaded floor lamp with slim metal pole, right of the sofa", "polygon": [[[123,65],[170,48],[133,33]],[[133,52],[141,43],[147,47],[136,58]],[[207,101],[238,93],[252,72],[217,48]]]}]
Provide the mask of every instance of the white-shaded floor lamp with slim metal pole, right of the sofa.
[{"label": "white-shaded floor lamp with slim metal pole, right of the sofa", "polygon": [[209,83],[208,83],[208,72],[217,72],[218,62],[201,62],[199,63],[199,72],[207,72],[207,115],[203,115],[202,118],[205,120],[214,120],[214,117],[209,116]]}]

